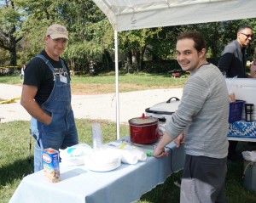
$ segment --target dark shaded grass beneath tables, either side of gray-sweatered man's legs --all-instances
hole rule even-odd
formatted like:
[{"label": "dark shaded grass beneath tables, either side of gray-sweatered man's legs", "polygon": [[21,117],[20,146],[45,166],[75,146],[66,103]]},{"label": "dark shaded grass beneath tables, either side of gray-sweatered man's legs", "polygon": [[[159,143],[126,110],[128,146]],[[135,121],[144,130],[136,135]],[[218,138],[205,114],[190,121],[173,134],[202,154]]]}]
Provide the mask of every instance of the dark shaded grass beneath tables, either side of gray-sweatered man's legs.
[{"label": "dark shaded grass beneath tables, either side of gray-sweatered man's legs", "polygon": [[[241,149],[241,148],[240,148]],[[240,152],[236,155],[236,160],[228,164],[228,173],[225,183],[225,195],[227,203],[256,203],[256,192],[244,189],[243,185],[243,158]],[[178,203],[179,188],[174,184],[177,177],[182,173],[166,179],[164,184],[160,184],[142,196],[142,202]]]}]

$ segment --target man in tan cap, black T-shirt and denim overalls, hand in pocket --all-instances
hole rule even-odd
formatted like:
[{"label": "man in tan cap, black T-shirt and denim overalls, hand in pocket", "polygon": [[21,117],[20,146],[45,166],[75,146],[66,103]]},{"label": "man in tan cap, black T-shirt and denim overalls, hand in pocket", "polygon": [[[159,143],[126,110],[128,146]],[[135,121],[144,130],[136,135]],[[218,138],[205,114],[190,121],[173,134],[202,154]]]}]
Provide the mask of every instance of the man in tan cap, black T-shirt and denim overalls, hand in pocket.
[{"label": "man in tan cap, black T-shirt and denim overalls, hand in pocket", "polygon": [[68,40],[66,27],[50,25],[45,48],[26,66],[20,104],[32,116],[34,171],[43,169],[42,149],[65,149],[79,143],[71,107],[67,63],[61,59]]}]

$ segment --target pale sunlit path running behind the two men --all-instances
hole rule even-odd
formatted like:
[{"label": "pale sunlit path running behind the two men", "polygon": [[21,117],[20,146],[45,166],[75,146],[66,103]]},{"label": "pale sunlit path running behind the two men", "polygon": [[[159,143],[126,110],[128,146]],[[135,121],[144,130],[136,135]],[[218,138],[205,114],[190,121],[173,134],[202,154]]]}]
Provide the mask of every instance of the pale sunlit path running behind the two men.
[{"label": "pale sunlit path running behind the two men", "polygon": [[[14,99],[21,94],[20,86],[0,83],[0,99]],[[182,88],[143,90],[119,93],[119,121],[128,123],[142,116],[145,109],[164,102],[171,97],[181,98]],[[73,95],[72,106],[75,118],[116,121],[115,93],[98,95]],[[0,104],[1,122],[29,121],[30,116],[20,105],[20,99],[11,104]]]}]

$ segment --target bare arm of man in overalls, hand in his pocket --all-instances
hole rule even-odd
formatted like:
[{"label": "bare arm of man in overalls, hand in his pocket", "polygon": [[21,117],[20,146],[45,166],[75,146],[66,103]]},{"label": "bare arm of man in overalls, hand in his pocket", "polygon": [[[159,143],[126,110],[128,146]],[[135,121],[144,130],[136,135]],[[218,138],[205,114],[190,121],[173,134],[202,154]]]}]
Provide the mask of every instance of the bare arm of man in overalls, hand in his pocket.
[{"label": "bare arm of man in overalls, hand in his pocket", "polygon": [[38,87],[23,85],[20,104],[26,109],[26,111],[38,121],[48,125],[51,121],[51,116],[42,110],[38,103],[34,100]]}]

